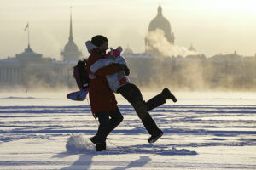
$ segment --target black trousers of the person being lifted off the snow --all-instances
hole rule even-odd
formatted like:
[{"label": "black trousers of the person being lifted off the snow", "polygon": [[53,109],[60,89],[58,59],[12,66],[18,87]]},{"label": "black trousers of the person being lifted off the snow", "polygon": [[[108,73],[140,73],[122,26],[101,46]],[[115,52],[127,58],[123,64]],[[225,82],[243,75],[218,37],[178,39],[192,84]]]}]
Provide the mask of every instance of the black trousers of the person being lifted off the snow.
[{"label": "black trousers of the person being lifted off the snow", "polygon": [[[154,106],[158,106],[160,104],[154,104],[148,105],[148,102],[146,103],[143,100],[143,95],[139,88],[137,88],[134,84],[125,84],[124,86],[120,87],[118,89],[118,93],[120,93],[127,101],[131,103],[131,105],[134,107],[137,116],[142,120],[144,127],[147,129],[148,133],[153,135],[154,133],[157,133],[159,131],[159,128],[155,124],[152,117],[149,115],[148,110],[153,109]],[[160,96],[160,94],[158,95]],[[159,98],[159,99],[156,99]],[[153,100],[157,103],[158,100],[160,100],[160,97],[154,97],[153,99],[150,99],[151,102]],[[160,101],[162,104],[163,101]],[[164,99],[164,103],[166,102],[166,99]]]}]

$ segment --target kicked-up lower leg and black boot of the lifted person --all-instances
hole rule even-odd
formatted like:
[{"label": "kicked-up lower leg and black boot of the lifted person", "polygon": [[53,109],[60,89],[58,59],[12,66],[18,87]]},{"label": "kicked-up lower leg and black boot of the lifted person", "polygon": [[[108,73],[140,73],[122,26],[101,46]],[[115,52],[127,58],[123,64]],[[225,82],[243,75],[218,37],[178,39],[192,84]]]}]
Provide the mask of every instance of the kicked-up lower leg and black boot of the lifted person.
[{"label": "kicked-up lower leg and black boot of the lifted person", "polygon": [[164,88],[160,94],[154,96],[154,98],[149,99],[146,102],[148,111],[153,110],[154,108],[163,105],[166,103],[166,99],[172,99],[173,102],[177,102],[175,96],[170,92],[168,88]]}]

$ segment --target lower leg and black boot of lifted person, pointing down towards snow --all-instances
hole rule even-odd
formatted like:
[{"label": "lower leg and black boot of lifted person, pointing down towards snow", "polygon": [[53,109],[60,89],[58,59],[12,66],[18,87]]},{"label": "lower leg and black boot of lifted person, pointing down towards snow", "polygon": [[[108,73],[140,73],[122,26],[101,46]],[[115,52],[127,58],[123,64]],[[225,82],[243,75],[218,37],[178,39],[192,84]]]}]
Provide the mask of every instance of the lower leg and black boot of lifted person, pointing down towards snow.
[{"label": "lower leg and black boot of lifted person, pointing down towards snow", "polygon": [[143,125],[147,129],[148,133],[151,134],[151,137],[148,139],[148,143],[152,144],[157,139],[159,139],[164,133],[161,131],[155,124],[152,117],[148,114],[143,120]]}]

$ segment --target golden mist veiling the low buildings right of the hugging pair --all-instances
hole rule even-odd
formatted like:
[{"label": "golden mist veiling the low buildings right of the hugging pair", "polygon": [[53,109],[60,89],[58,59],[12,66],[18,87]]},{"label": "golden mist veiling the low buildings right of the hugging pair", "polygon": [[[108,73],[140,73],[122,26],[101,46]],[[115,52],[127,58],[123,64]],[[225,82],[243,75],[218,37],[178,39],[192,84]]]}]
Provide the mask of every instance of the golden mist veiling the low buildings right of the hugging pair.
[{"label": "golden mist veiling the low buildings right of the hugging pair", "polygon": [[[143,61],[141,64],[143,65]],[[131,66],[131,80],[143,88],[170,87],[178,91],[255,91],[255,65],[218,60],[154,60],[151,65]],[[132,77],[134,76],[134,77]]]}]

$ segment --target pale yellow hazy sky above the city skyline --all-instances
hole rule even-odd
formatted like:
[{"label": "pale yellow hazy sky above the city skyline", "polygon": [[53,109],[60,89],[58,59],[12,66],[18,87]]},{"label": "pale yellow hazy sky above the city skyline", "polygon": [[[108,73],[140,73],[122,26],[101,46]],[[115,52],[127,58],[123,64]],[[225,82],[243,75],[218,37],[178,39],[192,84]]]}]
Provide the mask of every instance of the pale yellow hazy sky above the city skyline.
[{"label": "pale yellow hazy sky above the city skyline", "polygon": [[256,53],[254,0],[0,0],[0,59],[27,47],[24,31],[30,25],[31,47],[44,57],[60,59],[68,40],[69,7],[73,6],[73,37],[84,57],[84,42],[96,34],[110,46],[144,51],[148,24],[161,3],[170,21],[175,44],[200,54]]}]

